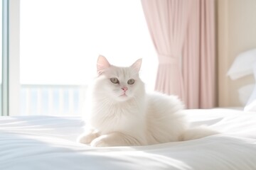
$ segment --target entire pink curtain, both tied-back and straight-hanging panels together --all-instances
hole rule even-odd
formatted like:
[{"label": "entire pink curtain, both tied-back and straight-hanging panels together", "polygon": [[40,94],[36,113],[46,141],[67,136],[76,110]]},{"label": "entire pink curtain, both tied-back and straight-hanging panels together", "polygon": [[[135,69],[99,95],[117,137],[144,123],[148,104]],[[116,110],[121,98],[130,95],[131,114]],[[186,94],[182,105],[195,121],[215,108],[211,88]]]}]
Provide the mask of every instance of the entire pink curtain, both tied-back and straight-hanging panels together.
[{"label": "entire pink curtain, both tied-back and straight-hanging panels together", "polygon": [[156,91],[187,108],[215,106],[214,0],[142,0],[159,57]]}]

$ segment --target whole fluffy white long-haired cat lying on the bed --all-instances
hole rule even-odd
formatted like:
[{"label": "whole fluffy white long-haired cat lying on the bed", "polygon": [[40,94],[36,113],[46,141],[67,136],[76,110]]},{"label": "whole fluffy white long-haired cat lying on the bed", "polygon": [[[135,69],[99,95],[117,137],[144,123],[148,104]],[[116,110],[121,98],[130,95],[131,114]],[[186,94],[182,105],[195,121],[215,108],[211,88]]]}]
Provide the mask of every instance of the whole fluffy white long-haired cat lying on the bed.
[{"label": "whole fluffy white long-haired cat lying on the bed", "polygon": [[141,64],[140,59],[131,67],[115,67],[105,57],[98,58],[79,142],[93,147],[154,145],[217,133],[189,128],[176,96],[146,94],[139,79]]}]

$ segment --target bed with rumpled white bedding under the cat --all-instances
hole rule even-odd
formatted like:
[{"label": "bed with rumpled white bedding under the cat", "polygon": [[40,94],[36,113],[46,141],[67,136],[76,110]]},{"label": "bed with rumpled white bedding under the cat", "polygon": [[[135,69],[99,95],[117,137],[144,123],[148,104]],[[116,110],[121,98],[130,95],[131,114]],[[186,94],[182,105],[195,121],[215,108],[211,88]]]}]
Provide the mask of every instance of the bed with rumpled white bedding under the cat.
[{"label": "bed with rumpled white bedding under the cat", "polygon": [[192,125],[222,133],[140,147],[94,148],[76,142],[81,117],[0,117],[0,169],[256,169],[256,112],[186,110]]}]

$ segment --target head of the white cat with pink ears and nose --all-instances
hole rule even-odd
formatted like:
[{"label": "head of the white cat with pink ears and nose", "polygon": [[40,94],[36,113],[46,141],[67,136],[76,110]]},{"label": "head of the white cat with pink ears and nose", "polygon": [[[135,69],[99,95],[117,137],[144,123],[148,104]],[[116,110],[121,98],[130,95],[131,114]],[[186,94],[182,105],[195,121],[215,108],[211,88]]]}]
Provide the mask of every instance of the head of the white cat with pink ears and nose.
[{"label": "head of the white cat with pink ears and nose", "polygon": [[143,93],[144,83],[139,79],[141,62],[137,60],[131,67],[115,67],[100,56],[97,62],[97,94],[113,101],[127,101]]}]

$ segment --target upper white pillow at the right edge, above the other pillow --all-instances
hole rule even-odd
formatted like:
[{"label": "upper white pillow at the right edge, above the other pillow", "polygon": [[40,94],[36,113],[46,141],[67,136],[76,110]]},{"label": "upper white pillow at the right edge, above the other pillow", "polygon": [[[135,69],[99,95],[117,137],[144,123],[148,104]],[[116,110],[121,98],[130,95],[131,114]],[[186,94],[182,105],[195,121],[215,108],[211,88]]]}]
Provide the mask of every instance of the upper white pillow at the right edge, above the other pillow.
[{"label": "upper white pillow at the right edge, above the other pillow", "polygon": [[234,80],[252,74],[254,62],[256,62],[256,48],[240,53],[228,70],[228,76]]}]

